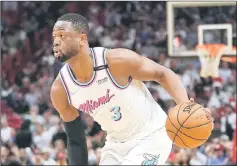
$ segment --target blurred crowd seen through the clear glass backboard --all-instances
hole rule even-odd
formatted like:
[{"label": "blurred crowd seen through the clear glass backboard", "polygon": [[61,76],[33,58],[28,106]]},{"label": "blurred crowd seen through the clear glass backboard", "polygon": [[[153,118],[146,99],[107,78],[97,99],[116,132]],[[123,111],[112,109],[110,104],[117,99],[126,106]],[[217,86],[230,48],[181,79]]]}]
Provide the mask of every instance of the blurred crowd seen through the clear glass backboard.
[{"label": "blurred crowd seen through the clear glass backboard", "polygon": [[[232,25],[233,35],[236,36],[236,6],[208,6],[174,9],[176,20],[175,36],[179,44],[174,44],[174,49],[192,50],[198,42],[197,27],[200,24]],[[205,30],[204,43],[227,43],[225,30]],[[236,43],[235,43],[236,44]]]}]

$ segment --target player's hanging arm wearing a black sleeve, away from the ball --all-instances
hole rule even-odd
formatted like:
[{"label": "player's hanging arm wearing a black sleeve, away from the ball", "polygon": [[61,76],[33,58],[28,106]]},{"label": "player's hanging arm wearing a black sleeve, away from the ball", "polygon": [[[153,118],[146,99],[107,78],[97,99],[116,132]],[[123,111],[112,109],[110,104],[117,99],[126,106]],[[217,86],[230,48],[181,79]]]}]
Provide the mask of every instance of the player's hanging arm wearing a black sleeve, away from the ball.
[{"label": "player's hanging arm wearing a black sleeve, away from the ball", "polygon": [[64,122],[67,133],[67,150],[69,165],[88,165],[88,152],[84,126],[79,112],[68,103],[61,80],[56,78],[50,96],[55,109]]}]

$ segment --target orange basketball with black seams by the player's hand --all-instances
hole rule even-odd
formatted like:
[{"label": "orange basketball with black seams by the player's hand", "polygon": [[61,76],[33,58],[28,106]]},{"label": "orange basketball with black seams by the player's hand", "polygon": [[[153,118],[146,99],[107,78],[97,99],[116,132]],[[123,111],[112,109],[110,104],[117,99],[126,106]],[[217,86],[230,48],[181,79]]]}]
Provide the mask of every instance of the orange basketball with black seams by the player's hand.
[{"label": "orange basketball with black seams by the player's hand", "polygon": [[182,103],[172,108],[166,119],[166,132],[173,143],[196,148],[206,142],[213,129],[211,114],[200,104]]}]

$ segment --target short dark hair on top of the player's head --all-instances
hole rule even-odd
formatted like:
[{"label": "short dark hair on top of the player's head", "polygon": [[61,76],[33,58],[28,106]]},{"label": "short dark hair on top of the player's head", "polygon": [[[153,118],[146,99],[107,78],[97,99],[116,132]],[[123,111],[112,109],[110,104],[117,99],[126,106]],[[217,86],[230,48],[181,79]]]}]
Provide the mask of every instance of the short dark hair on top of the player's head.
[{"label": "short dark hair on top of the player's head", "polygon": [[85,17],[76,13],[67,13],[57,19],[57,21],[69,21],[72,23],[73,28],[88,35],[89,25]]}]

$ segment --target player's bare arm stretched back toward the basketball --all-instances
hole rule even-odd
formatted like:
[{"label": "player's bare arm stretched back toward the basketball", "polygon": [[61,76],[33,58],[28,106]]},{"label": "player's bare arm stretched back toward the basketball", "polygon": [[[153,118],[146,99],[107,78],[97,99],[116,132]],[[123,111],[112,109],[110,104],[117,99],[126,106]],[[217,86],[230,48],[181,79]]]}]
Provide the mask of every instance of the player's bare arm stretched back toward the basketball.
[{"label": "player's bare arm stretched back toward the basketball", "polygon": [[181,79],[172,70],[128,49],[111,49],[107,56],[108,62],[123,70],[124,76],[131,75],[137,80],[158,82],[177,104],[189,101]]}]

